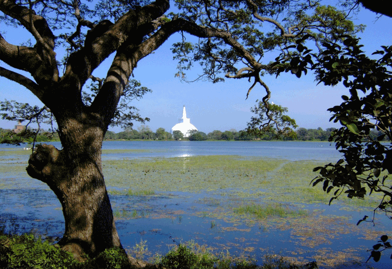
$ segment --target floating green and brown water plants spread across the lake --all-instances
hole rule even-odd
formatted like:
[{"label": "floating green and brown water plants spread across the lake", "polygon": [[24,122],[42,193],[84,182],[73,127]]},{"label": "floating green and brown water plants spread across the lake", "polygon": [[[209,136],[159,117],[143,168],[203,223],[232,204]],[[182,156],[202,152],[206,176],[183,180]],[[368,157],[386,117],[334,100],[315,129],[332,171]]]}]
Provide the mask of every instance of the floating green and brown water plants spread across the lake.
[{"label": "floating green and brown water plants spread across the lake", "polygon": [[[44,183],[26,178],[27,158],[28,155],[22,155],[3,156],[0,159],[2,190],[45,188]],[[375,208],[374,201],[342,198],[333,207],[338,211],[336,215],[333,215],[336,211],[326,213],[323,204],[328,203],[328,197],[319,188],[309,186],[310,180],[316,175],[312,169],[318,165],[316,161],[192,156],[104,160],[103,172],[116,221],[132,223],[133,227],[138,227],[140,222],[154,226],[161,222],[156,219],[161,219],[162,222],[167,221],[169,226],[172,225],[170,227],[180,227],[185,234],[188,233],[185,231],[188,227],[194,227],[192,225],[197,223],[195,228],[200,230],[187,235],[196,238],[198,235],[208,237],[214,234],[214,237],[208,239],[211,241],[206,243],[214,250],[220,250],[214,255],[220,260],[222,269],[241,264],[224,259],[227,249],[235,252],[236,257],[241,257],[242,254],[248,257],[257,253],[257,264],[260,266],[263,259],[260,253],[263,253],[263,256],[266,253],[276,253],[263,249],[263,244],[266,243],[264,238],[276,230],[287,233],[290,240],[295,238],[295,251],[285,249],[283,253],[278,252],[290,262],[303,262],[306,255],[312,255],[312,258],[320,261],[320,265],[328,266],[351,258],[361,260],[363,257],[359,253],[364,250],[363,247],[338,251],[333,248],[333,244],[346,234],[360,240],[374,240],[379,237],[380,229],[369,228],[364,233],[360,232],[355,226],[357,220],[352,220],[356,218],[356,212],[348,217],[340,217],[346,214],[345,212],[357,209],[371,211]],[[42,205],[34,207],[34,210],[40,208],[45,210]],[[331,208],[327,207],[327,210]],[[350,220],[354,224],[349,224]],[[155,228],[162,229],[162,232],[156,234],[153,232]],[[151,231],[143,232],[149,236],[152,233],[152,237],[156,236],[161,241],[165,240],[165,236],[168,237],[165,226],[156,226]],[[384,232],[390,234],[388,231]],[[130,252],[133,249],[132,244],[136,244],[135,251],[139,250],[139,254],[135,255],[144,255],[145,258],[155,261],[162,258],[155,252],[162,251],[165,245],[158,247],[156,244],[162,245],[160,242],[150,242],[152,245],[147,249],[146,238],[140,237],[143,235],[139,233],[135,234],[136,239],[131,235],[131,242],[126,245],[131,249]],[[246,239],[250,234],[253,235],[254,241]],[[175,238],[177,243],[181,242],[181,236],[182,232]],[[126,240],[124,239],[124,242]],[[135,243],[138,240],[141,242]],[[309,247],[312,248],[312,254],[303,250]],[[143,249],[146,250],[145,253],[142,253]],[[275,261],[273,266],[276,264],[279,264],[279,261]],[[282,262],[282,266],[283,264]],[[285,268],[279,266],[265,268]]]}]

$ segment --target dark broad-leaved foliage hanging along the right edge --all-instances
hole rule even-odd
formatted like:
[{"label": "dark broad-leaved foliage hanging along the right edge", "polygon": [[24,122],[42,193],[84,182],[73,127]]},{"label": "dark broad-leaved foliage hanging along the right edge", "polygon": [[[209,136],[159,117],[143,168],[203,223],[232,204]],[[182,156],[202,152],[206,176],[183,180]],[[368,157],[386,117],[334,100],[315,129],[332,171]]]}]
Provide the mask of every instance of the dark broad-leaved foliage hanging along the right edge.
[{"label": "dark broad-leaved foliage hanging along the right edge", "polygon": [[[392,189],[388,175],[392,173],[392,145],[380,141],[392,138],[392,47],[373,53],[383,55],[373,60],[360,49],[358,39],[347,36],[344,45],[342,48],[325,44],[319,63],[313,66],[320,82],[336,85],[343,80],[351,94],[342,97],[341,105],[329,109],[333,113],[331,121],[343,125],[330,138],[343,153],[343,159],[315,168],[320,175],[313,180],[313,186],[323,181],[324,191],[334,190],[330,202],[342,193],[362,199],[372,192],[382,193],[383,199],[376,209],[391,217]],[[373,129],[382,135],[371,137]]]}]

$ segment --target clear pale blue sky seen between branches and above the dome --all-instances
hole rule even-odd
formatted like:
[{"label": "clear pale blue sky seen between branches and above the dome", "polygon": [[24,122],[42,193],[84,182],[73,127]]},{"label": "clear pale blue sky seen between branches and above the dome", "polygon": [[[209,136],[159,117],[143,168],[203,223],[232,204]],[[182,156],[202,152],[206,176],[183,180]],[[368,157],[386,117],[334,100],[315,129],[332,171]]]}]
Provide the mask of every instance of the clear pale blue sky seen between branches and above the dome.
[{"label": "clear pale blue sky seen between branches and above the dome", "polygon": [[[331,2],[331,1],[329,1]],[[392,19],[382,16],[376,20],[377,15],[364,8],[355,18],[355,24],[366,24],[363,33],[358,36],[362,39],[363,49],[371,52],[380,49],[381,45],[391,45]],[[1,30],[4,30],[2,28]],[[4,38],[12,44],[17,45],[21,35],[15,29],[3,34]],[[27,35],[26,35],[27,36]],[[242,130],[246,127],[246,122],[252,116],[250,107],[255,105],[256,99],[261,99],[265,95],[264,89],[255,87],[249,98],[245,100],[247,89],[250,83],[243,80],[226,79],[225,82],[212,84],[210,82],[181,82],[174,77],[177,63],[172,59],[171,45],[178,41],[179,34],[173,35],[161,48],[153,54],[148,55],[138,63],[134,70],[134,79],[140,80],[143,86],[152,90],[140,101],[132,105],[140,109],[142,117],[151,119],[146,125],[155,131],[159,127],[170,131],[172,126],[182,117],[182,107],[186,106],[187,116],[191,123],[199,131],[209,133],[213,130]],[[0,66],[9,68],[0,62]],[[101,64],[94,75],[104,77],[110,58]],[[189,78],[196,77],[197,66],[195,66],[194,76],[189,74]],[[294,118],[300,127],[323,129],[328,127],[338,127],[338,124],[329,122],[329,107],[340,104],[341,96],[347,91],[343,86],[325,87],[317,85],[314,76],[308,74],[300,79],[291,74],[283,74],[275,79],[274,76],[262,78],[270,87],[271,101],[287,107],[290,117]],[[0,99],[16,100],[28,102],[34,105],[42,105],[38,98],[19,84],[0,77]],[[0,127],[13,128],[16,122],[0,120]],[[140,126],[135,123],[134,128]],[[109,128],[109,130],[119,132],[120,128]]]}]

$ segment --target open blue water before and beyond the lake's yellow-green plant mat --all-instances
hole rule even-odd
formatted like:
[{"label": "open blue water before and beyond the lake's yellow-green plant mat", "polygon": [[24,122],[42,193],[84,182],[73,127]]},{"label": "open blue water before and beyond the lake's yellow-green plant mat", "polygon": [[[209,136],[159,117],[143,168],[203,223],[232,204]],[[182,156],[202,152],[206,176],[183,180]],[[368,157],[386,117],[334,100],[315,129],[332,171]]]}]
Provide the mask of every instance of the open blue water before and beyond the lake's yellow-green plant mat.
[{"label": "open blue water before and beyond the lake's yellow-green plant mat", "polygon": [[[52,143],[60,148],[59,143]],[[23,146],[22,146],[23,147]],[[22,148],[19,147],[19,148]],[[1,147],[7,150],[14,147]],[[241,157],[269,157],[292,161],[313,160],[334,162],[341,154],[334,145],[325,142],[194,142],[194,141],[116,141],[103,143],[103,160],[187,157],[197,155],[238,155]],[[0,165],[25,165],[28,155],[0,156]],[[39,185],[25,173],[18,175],[0,174],[0,180],[7,182],[8,188],[0,189],[0,225],[10,231],[24,232],[31,229],[40,234],[61,237],[64,219],[61,205],[46,185]],[[0,182],[1,183],[1,182]],[[110,188],[110,186],[108,186]],[[38,199],[37,199],[38,198]],[[309,228],[300,220],[283,220],[271,225],[267,221],[240,220],[225,216],[224,206],[237,205],[243,198],[222,196],[221,194],[156,193],[153,196],[110,195],[116,217],[116,226],[123,246],[129,251],[140,242],[145,242],[150,253],[165,254],[172,245],[194,240],[216,251],[229,251],[233,255],[250,255],[260,264],[266,254],[290,256],[294,261],[331,259],[334,255],[323,256],[323,251],[346,253],[340,260],[335,257],[334,265],[342,268],[367,268],[362,262],[368,257],[366,250],[375,244],[374,238],[364,239],[361,229],[356,228],[357,220],[364,212],[346,211],[339,206],[324,204],[292,204],[305,207],[317,218],[309,218],[317,227]],[[258,202],[249,198],[246,202]],[[226,208],[226,207],[224,207]],[[319,213],[320,212],[320,213]],[[130,217],[132,214],[135,216]],[[223,216],[223,217],[222,217]],[[374,233],[381,235],[389,229],[389,222],[377,223]],[[291,227],[291,228],[288,228]],[[294,228],[293,228],[294,227]],[[351,229],[347,231],[347,227]],[[371,227],[370,227],[371,229]],[[313,241],[309,239],[313,233]],[[307,237],[306,240],[303,238]],[[352,251],[352,252],[350,252]],[[150,255],[148,255],[150,254]],[[390,254],[386,254],[389,256]],[[384,256],[386,256],[384,255]],[[361,262],[352,264],[352,260]],[[328,258],[327,258],[328,257]],[[392,264],[371,265],[376,268]],[[346,265],[348,267],[345,267]],[[344,267],[343,267],[344,265]],[[330,268],[327,265],[320,268]],[[336,267],[335,267],[336,268]]]}]

